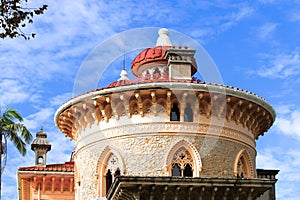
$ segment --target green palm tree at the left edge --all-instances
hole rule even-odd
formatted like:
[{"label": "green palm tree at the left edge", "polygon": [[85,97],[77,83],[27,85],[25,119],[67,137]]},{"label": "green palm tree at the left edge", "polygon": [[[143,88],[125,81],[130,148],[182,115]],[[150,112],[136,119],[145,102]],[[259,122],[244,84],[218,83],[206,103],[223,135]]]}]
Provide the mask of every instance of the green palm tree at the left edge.
[{"label": "green palm tree at the left edge", "polygon": [[26,144],[32,140],[32,135],[21,122],[23,118],[14,109],[0,110],[0,200],[1,200],[1,161],[3,154],[2,138],[8,138],[22,156],[26,154]]}]

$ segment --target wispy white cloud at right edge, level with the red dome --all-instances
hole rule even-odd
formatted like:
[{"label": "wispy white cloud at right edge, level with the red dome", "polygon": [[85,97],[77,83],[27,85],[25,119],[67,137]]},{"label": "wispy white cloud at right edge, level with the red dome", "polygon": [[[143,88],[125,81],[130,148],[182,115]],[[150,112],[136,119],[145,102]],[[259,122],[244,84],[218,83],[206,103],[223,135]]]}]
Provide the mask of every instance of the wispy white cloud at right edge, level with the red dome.
[{"label": "wispy white cloud at right edge, level with the red dome", "polygon": [[285,79],[300,74],[299,51],[290,54],[265,56],[266,64],[258,71],[258,75],[269,78]]}]

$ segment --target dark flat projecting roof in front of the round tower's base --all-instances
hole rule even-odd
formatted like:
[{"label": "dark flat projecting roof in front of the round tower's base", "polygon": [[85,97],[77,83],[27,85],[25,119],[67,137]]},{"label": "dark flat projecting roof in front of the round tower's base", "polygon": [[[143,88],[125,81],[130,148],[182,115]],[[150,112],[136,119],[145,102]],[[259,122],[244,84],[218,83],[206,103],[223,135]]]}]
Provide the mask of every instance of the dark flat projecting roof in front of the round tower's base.
[{"label": "dark flat projecting roof in front of the round tower's base", "polygon": [[106,197],[119,200],[135,199],[134,195],[137,199],[256,199],[272,190],[275,183],[276,179],[117,176]]}]

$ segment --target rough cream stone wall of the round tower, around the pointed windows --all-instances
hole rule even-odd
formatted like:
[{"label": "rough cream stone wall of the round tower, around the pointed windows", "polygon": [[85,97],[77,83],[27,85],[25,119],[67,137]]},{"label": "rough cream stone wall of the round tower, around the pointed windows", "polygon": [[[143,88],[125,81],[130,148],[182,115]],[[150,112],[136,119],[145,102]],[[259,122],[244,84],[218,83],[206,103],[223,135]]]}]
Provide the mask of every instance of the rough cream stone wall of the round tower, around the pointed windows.
[{"label": "rough cream stone wall of the round tower, around the pointed windows", "polygon": [[[116,156],[121,174],[127,176],[170,176],[168,155],[180,142],[194,159],[199,154],[197,165],[201,166],[196,166],[199,177],[233,177],[235,160],[241,150],[249,154],[252,171],[255,169],[255,148],[245,142],[254,143],[254,139],[232,127],[203,128],[205,124],[188,122],[132,123],[127,127],[103,130],[99,127],[85,130],[77,141],[75,162],[76,174],[80,177],[79,199],[99,196],[103,190],[99,184],[103,184],[103,169],[109,154]],[[212,130],[216,132],[209,132]]]}]

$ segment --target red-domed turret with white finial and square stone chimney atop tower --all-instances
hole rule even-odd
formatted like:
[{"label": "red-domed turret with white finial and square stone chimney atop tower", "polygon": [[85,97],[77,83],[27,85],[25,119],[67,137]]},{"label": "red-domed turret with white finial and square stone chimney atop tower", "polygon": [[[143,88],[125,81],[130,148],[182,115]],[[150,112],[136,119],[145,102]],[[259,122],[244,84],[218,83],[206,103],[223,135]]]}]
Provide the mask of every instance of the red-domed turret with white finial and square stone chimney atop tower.
[{"label": "red-domed turret with white finial and square stone chimney atop tower", "polygon": [[147,48],[132,61],[132,73],[142,80],[191,80],[197,71],[195,51],[172,46],[169,31],[162,28],[155,47]]}]

